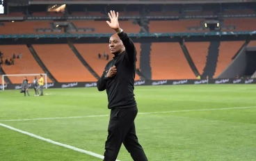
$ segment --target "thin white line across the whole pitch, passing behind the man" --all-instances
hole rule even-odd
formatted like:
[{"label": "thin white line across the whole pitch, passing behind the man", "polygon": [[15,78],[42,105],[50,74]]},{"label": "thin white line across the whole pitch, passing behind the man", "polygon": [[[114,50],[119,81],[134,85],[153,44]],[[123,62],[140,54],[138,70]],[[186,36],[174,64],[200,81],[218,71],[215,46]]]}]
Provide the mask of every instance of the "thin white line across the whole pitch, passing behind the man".
[{"label": "thin white line across the whole pitch, passing behind the man", "polygon": [[[212,111],[212,110],[236,110],[236,109],[246,109],[246,108],[256,108],[256,107],[237,107],[237,108],[209,108],[209,109],[199,109],[199,110],[173,110],[173,111],[162,111],[162,112],[138,112],[138,115],[149,115],[149,114],[161,114],[161,113],[175,113],[175,112],[195,112],[195,111]],[[4,119],[0,121],[33,121],[33,120],[47,120],[47,119],[76,119],[76,118],[86,118],[86,117],[109,117],[109,115],[89,115],[81,117],[46,117],[46,118],[35,118],[35,119]]]}]

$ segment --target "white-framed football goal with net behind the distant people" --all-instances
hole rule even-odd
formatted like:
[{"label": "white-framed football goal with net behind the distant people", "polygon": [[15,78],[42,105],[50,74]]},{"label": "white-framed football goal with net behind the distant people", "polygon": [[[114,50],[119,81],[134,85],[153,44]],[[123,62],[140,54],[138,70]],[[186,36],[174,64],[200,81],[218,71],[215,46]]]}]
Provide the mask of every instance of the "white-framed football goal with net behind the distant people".
[{"label": "white-framed football goal with net behind the distant people", "polygon": [[[2,90],[5,89],[6,82],[4,81],[5,77],[8,76],[11,82],[15,82],[14,84],[17,84],[17,89],[21,88],[22,81],[24,80],[24,77],[26,77],[29,80],[29,87],[32,86],[33,80],[35,79],[35,76],[40,79],[41,74],[5,74],[2,75],[1,78],[1,86]],[[44,88],[47,89],[47,74],[42,74],[44,78]]]}]

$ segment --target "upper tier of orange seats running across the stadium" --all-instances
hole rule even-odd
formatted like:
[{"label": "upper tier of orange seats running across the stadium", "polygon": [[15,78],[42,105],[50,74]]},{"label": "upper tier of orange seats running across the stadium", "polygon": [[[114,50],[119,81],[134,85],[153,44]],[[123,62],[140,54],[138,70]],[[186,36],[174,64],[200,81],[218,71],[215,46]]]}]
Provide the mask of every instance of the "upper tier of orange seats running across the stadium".
[{"label": "upper tier of orange seats running across the stadium", "polygon": [[[149,33],[205,33],[209,28],[204,28],[204,19],[180,20],[151,20],[148,24]],[[114,33],[106,26],[106,21],[73,20],[67,26],[68,33]],[[0,34],[45,34],[65,33],[62,27],[55,26],[53,21],[26,21],[26,22],[1,22]],[[60,22],[58,22],[60,23]],[[125,26],[127,33],[141,33],[144,26],[132,20],[120,21]],[[255,31],[255,18],[227,18],[224,19],[225,28],[221,31]],[[230,28],[227,28],[230,27]],[[82,28],[82,30],[80,30]],[[196,29],[199,28],[199,29]],[[58,29],[56,31],[55,29]],[[38,30],[41,30],[38,32]]]}]

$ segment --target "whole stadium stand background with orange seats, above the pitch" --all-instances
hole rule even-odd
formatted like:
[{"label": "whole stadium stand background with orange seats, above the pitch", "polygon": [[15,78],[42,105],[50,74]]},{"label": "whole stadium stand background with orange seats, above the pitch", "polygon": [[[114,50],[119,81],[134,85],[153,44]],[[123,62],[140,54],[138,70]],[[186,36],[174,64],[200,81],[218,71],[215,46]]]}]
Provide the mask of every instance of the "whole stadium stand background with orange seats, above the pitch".
[{"label": "whole stadium stand background with orange seats, above the pitch", "polygon": [[[256,82],[254,1],[2,2],[3,61],[22,58],[1,65],[1,75],[45,73],[48,87],[95,86],[113,57],[106,20],[115,10],[138,51],[136,85]],[[3,84],[21,82],[6,76]]]}]

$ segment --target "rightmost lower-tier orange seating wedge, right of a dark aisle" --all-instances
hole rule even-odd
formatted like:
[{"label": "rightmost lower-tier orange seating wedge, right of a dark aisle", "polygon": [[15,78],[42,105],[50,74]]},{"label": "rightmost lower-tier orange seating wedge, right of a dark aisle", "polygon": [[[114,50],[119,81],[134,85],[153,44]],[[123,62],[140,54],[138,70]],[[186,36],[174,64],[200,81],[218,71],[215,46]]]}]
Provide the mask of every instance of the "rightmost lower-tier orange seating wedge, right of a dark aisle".
[{"label": "rightmost lower-tier orange seating wedge, right of a dark aisle", "polygon": [[243,43],[243,41],[221,42],[214,78],[217,78],[230,65],[232,57],[239,51]]}]

